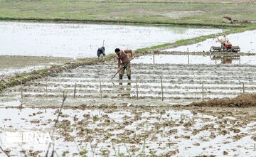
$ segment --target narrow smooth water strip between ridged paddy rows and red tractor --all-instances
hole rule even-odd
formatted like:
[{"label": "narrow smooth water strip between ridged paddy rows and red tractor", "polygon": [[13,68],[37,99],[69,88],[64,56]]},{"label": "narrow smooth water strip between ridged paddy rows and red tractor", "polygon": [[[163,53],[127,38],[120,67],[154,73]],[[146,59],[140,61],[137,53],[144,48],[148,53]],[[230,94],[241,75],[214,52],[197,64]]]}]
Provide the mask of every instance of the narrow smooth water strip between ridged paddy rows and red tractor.
[{"label": "narrow smooth water strip between ridged paddy rows and red tractor", "polygon": [[[188,64],[188,55],[144,55],[132,60],[132,63],[145,63],[145,64]],[[189,64],[223,64],[222,60],[212,60],[209,55],[189,55]],[[239,59],[232,59],[232,65],[256,65],[256,56],[241,56]]]}]

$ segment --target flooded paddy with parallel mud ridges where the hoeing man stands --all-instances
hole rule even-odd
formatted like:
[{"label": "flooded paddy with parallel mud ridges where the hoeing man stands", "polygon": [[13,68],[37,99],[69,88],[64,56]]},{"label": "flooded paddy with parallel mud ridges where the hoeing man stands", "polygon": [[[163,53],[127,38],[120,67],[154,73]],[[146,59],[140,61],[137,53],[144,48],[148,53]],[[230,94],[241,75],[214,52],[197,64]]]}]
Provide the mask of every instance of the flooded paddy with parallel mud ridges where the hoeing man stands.
[{"label": "flooded paddy with parallel mud ridges where the hoeing man stands", "polygon": [[115,64],[68,70],[22,85],[22,96],[21,86],[6,89],[0,94],[0,105],[6,107],[16,102],[19,106],[22,102],[29,107],[54,106],[60,103],[63,90],[69,98],[75,92],[75,99],[66,102],[70,105],[128,104],[137,97],[141,101],[164,99],[166,104],[190,104],[254,93],[256,87],[255,65],[133,64],[132,68],[132,81],[128,82],[124,76],[122,85],[118,76],[111,80],[116,72]]}]

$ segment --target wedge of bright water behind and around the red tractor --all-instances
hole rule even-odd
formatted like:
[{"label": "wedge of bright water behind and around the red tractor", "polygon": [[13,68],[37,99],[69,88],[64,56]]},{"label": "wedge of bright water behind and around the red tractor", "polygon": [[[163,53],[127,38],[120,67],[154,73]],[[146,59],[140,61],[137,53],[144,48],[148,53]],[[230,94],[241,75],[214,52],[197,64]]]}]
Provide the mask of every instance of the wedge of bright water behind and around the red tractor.
[{"label": "wedge of bright water behind and around the red tractor", "polygon": [[[232,45],[238,45],[240,47],[240,51],[242,53],[256,53],[256,31],[245,31],[243,33],[230,34],[227,37],[228,40],[232,43]],[[190,52],[203,52],[209,51],[211,46],[220,46],[220,42],[218,42],[217,39],[210,38],[201,43],[180,46],[178,48],[171,48],[165,51],[186,52],[188,48]]]}]

